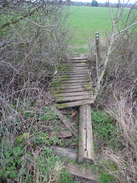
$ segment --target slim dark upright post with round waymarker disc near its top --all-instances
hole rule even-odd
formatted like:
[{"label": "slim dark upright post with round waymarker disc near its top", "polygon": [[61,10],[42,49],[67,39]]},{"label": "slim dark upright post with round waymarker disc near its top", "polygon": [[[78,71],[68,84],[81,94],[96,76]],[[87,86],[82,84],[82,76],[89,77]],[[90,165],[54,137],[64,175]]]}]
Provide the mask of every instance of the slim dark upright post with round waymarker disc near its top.
[{"label": "slim dark upright post with round waymarker disc near its top", "polygon": [[95,34],[95,40],[96,40],[96,71],[97,71],[97,78],[99,77],[98,73],[98,63],[99,63],[99,32],[96,32]]}]

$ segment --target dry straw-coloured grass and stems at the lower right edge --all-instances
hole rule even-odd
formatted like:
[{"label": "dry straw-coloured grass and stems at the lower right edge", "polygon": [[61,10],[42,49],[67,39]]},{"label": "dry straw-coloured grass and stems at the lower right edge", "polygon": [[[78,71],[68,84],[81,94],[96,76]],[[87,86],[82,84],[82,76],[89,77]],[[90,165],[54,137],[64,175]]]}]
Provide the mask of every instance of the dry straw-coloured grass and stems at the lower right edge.
[{"label": "dry straw-coloured grass and stems at the lower right edge", "polygon": [[[106,169],[119,182],[137,181],[137,125],[135,124],[132,108],[127,105],[125,98],[117,100],[115,112],[111,115],[116,119],[119,126],[119,140],[122,143],[121,149],[104,151]],[[111,167],[109,161],[114,163]]]}]

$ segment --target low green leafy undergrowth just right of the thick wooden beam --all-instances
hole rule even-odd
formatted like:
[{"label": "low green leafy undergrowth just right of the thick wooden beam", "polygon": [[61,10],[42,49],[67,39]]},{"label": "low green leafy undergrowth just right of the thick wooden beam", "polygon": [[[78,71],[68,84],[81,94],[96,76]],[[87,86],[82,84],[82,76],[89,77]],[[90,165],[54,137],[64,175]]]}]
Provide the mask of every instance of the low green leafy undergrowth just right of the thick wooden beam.
[{"label": "low green leafy undergrowth just right of the thick wooden beam", "polygon": [[101,111],[91,111],[92,125],[95,142],[95,151],[101,149],[103,146],[109,146],[115,148],[118,139],[118,126],[114,118],[109,114],[104,114]]}]

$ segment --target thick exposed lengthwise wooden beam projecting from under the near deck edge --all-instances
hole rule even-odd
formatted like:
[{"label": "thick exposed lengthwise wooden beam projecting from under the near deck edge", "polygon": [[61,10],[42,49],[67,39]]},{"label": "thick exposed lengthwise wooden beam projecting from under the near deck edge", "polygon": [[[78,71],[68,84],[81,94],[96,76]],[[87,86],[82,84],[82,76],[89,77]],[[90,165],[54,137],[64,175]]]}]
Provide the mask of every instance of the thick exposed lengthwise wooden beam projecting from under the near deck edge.
[{"label": "thick exposed lengthwise wooden beam projecting from under the near deck edge", "polygon": [[90,105],[80,106],[78,161],[83,161],[83,158],[94,161]]}]

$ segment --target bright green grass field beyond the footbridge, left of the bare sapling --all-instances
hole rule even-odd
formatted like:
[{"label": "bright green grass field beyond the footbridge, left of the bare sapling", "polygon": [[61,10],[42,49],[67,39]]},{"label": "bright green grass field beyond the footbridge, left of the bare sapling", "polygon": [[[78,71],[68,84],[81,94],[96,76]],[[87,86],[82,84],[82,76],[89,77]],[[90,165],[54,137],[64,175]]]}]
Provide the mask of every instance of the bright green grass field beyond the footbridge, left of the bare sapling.
[{"label": "bright green grass field beyond the footbridge, left of the bare sapling", "polygon": [[[116,8],[112,9],[113,15],[116,11]],[[105,39],[105,33],[111,32],[109,8],[71,6],[70,12],[71,29],[75,32],[68,48],[69,54],[87,52],[88,42],[93,42],[95,32],[100,33],[101,40]]]}]

